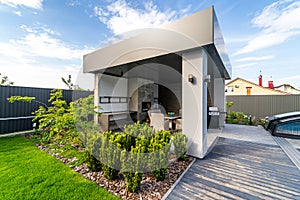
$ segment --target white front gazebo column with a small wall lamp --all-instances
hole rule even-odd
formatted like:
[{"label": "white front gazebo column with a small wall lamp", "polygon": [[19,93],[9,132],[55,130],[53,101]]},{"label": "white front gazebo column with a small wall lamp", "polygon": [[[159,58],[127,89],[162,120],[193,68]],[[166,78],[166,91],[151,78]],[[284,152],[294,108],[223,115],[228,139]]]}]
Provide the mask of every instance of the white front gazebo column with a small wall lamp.
[{"label": "white front gazebo column with a small wall lamp", "polygon": [[[182,130],[188,137],[188,155],[207,152],[207,54],[204,49],[182,55]],[[193,76],[193,83],[188,77]]]}]

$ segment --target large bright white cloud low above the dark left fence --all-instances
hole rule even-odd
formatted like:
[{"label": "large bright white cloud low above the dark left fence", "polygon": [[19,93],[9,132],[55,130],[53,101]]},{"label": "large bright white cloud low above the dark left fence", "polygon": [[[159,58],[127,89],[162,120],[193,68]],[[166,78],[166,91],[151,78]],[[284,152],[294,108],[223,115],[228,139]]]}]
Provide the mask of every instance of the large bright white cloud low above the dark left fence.
[{"label": "large bright white cloud low above the dark left fence", "polygon": [[45,26],[20,28],[22,38],[0,42],[1,73],[16,85],[66,88],[61,77],[76,78],[82,56],[90,50],[66,44]]}]

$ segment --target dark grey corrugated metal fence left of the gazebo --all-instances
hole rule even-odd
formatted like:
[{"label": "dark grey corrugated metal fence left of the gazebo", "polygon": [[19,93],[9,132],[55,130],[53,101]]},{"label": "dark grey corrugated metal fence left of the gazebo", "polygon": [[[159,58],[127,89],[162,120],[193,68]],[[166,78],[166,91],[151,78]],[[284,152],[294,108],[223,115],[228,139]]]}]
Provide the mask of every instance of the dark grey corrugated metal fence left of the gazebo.
[{"label": "dark grey corrugated metal fence left of the gazebo", "polygon": [[[49,88],[31,88],[19,86],[0,87],[0,134],[32,129],[32,112],[39,106],[49,106]],[[87,97],[93,92],[78,90],[63,90],[63,99],[68,103],[76,99]],[[36,101],[31,103],[15,102],[9,103],[7,98],[11,96],[35,97]],[[40,103],[39,103],[40,102]]]}]

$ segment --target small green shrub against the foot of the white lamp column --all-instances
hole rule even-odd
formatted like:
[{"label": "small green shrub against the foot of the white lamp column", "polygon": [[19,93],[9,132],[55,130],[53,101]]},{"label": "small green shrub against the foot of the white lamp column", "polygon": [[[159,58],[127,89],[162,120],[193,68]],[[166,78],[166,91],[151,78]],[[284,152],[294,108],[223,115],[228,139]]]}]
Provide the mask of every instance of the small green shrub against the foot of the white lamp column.
[{"label": "small green shrub against the foot of the white lamp column", "polygon": [[185,158],[184,155],[187,152],[187,137],[182,132],[177,132],[173,135],[172,142],[174,145],[174,153],[176,158],[178,160],[183,160]]}]

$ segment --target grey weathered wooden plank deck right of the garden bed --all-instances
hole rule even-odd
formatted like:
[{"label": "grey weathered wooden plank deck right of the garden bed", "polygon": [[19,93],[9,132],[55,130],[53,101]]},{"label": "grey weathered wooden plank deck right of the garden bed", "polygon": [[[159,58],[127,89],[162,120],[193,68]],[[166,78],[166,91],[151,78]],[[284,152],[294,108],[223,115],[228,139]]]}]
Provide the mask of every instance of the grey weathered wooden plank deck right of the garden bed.
[{"label": "grey weathered wooden plank deck right of the garden bed", "polygon": [[277,145],[220,138],[166,199],[300,199],[300,171]]}]

